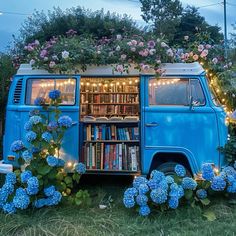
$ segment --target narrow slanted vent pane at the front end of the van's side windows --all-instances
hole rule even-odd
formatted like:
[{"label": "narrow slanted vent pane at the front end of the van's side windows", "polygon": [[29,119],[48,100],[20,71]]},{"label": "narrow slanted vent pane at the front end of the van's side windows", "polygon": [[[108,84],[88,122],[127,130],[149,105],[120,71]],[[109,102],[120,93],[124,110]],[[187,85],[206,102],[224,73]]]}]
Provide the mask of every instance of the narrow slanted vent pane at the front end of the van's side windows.
[{"label": "narrow slanted vent pane at the front end of the van's side windows", "polygon": [[191,96],[193,98],[194,106],[203,106],[205,105],[205,96],[202,91],[202,86],[198,79],[191,79]]}]

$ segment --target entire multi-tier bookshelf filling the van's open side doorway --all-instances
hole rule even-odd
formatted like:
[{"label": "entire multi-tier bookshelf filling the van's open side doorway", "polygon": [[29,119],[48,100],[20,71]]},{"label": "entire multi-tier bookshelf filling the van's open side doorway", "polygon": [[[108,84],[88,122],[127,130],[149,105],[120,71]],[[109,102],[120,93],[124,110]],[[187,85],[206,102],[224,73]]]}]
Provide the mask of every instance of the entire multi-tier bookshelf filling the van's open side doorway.
[{"label": "entire multi-tier bookshelf filling the van's open side doorway", "polygon": [[80,119],[87,173],[140,172],[138,78],[82,78]]}]

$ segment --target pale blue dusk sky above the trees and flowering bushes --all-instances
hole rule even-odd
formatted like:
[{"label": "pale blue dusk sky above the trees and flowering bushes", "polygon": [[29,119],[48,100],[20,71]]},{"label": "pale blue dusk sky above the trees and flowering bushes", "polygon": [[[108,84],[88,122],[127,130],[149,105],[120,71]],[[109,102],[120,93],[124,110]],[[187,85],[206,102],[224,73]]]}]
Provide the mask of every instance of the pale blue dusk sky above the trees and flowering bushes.
[{"label": "pale blue dusk sky above the trees and flowering bushes", "polygon": [[[219,0],[182,0],[183,6],[194,5],[207,22],[223,28],[223,5]],[[236,23],[236,0],[227,1],[228,31],[232,32],[232,24]],[[19,33],[21,24],[34,10],[52,10],[82,6],[91,10],[103,8],[105,11],[127,14],[142,24],[140,3],[138,0],[1,0],[0,2],[0,51],[4,51],[12,40],[12,34]],[[16,14],[17,13],[17,14]]]}]

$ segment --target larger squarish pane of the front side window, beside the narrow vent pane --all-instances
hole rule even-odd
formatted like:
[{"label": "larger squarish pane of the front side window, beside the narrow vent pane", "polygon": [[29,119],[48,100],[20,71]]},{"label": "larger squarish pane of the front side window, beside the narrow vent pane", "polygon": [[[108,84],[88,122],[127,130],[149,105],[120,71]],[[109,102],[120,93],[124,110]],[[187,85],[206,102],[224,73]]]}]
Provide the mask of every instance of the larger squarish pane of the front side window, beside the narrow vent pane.
[{"label": "larger squarish pane of the front side window, beside the narrow vent pane", "polygon": [[189,105],[189,79],[149,80],[149,105]]}]

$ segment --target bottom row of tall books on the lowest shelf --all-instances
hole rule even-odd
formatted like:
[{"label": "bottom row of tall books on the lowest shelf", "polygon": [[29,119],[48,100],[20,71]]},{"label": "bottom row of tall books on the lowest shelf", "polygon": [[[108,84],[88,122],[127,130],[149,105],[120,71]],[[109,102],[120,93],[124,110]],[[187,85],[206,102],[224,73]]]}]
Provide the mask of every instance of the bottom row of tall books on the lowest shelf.
[{"label": "bottom row of tall books on the lowest shelf", "polygon": [[83,146],[82,161],[88,170],[138,171],[139,147],[124,143],[87,143]]}]

